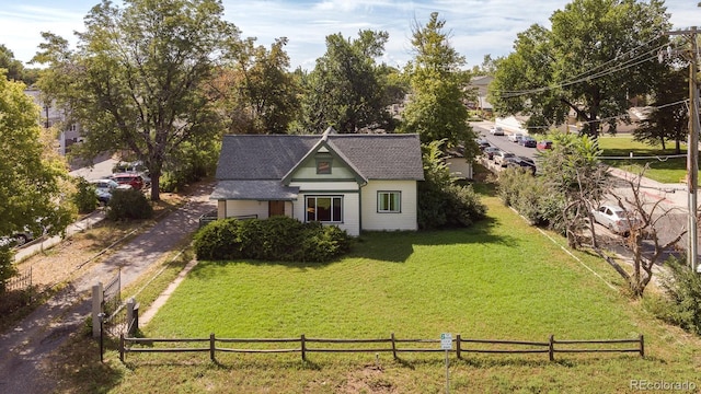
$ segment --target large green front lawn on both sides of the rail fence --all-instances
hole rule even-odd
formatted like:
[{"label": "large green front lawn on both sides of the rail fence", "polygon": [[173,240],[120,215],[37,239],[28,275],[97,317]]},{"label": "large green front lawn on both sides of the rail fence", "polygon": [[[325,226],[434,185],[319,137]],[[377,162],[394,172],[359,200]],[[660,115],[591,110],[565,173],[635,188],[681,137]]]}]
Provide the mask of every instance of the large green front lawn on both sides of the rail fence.
[{"label": "large green front lawn on both sides of the rail fence", "polygon": [[[364,234],[330,264],[202,262],[143,328],[147,337],[472,338],[646,336],[647,357],[451,356],[456,393],[627,392],[632,379],[691,381],[699,341],[652,320],[494,197],[469,230]],[[576,253],[620,285],[600,259]],[[298,345],[297,345],[298,346]],[[436,346],[438,345],[429,345]],[[290,346],[295,347],[295,346]],[[112,392],[441,393],[440,354],[128,355]],[[120,376],[120,378],[115,378]]]}]

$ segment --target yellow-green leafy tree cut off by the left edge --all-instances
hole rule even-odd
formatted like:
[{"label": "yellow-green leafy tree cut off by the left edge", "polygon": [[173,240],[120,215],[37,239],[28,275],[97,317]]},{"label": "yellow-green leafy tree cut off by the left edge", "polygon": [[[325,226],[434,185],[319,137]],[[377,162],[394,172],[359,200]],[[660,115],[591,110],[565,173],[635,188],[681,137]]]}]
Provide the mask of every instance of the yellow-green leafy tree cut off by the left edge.
[{"label": "yellow-green leafy tree cut off by the left edge", "polygon": [[[62,232],[76,211],[69,204],[66,162],[55,153],[55,135],[39,126],[39,107],[24,93],[24,83],[0,72],[0,235],[25,229],[42,234]],[[0,256],[0,289],[12,274]],[[10,262],[11,263],[11,262]]]}]

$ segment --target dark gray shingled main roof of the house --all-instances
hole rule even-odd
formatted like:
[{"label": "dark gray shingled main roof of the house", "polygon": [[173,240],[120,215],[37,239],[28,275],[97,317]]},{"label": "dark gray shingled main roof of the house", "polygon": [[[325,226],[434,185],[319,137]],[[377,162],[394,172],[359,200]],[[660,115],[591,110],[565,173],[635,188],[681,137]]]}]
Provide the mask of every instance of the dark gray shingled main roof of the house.
[{"label": "dark gray shingled main roof of the house", "polygon": [[[281,179],[322,136],[225,136],[217,179]],[[368,179],[424,178],[417,135],[329,135],[330,148]]]}]

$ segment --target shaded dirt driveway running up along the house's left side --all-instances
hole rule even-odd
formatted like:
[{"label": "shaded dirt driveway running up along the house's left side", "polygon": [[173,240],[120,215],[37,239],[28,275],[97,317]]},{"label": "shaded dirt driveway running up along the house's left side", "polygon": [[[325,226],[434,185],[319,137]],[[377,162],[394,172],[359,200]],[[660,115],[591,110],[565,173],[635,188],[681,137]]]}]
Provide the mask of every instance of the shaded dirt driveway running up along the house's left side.
[{"label": "shaded dirt driveway running up along the house's left side", "polygon": [[68,336],[80,329],[91,311],[90,290],[122,270],[128,286],[197,229],[198,218],[212,210],[214,185],[197,187],[188,201],[118,252],[93,265],[13,329],[0,336],[0,393],[50,393],[55,383],[44,372],[44,360]]}]

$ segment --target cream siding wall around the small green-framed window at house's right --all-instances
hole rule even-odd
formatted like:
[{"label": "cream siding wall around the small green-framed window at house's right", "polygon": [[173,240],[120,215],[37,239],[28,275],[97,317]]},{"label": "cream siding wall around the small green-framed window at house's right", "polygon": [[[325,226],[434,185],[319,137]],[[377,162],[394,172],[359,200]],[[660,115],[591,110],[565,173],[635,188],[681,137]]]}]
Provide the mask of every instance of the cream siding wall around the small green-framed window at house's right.
[{"label": "cream siding wall around the small green-framed window at house's right", "polygon": [[[378,192],[401,192],[401,212],[378,212]],[[417,230],[415,181],[370,181],[361,194],[363,230]]]}]

